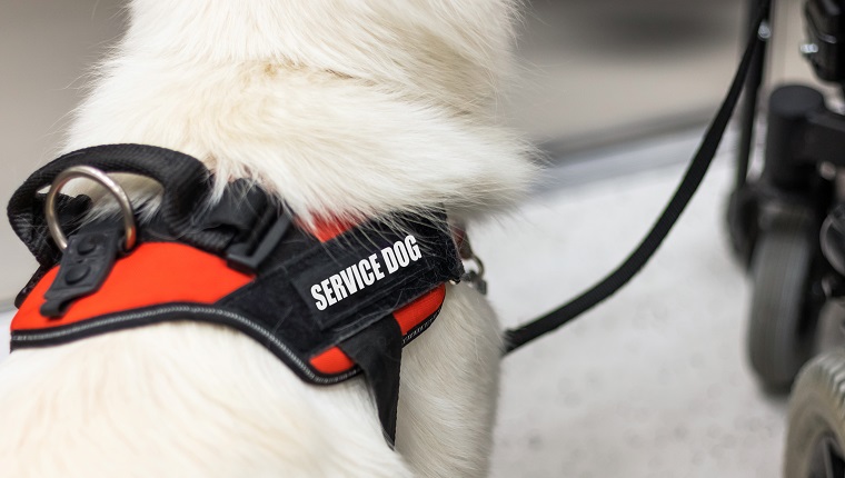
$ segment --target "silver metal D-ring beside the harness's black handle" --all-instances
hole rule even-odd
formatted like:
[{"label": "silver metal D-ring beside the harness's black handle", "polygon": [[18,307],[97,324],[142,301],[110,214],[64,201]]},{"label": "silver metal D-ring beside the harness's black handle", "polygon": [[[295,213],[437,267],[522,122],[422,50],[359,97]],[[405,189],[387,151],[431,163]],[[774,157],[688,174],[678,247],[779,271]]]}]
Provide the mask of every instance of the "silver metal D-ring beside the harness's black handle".
[{"label": "silver metal D-ring beside the harness's black handle", "polygon": [[64,249],[68,248],[68,238],[64,236],[64,232],[61,231],[59,216],[56,212],[56,198],[59,196],[61,188],[63,188],[71,179],[76,178],[86,178],[99,182],[111,192],[111,196],[113,196],[115,199],[117,199],[118,205],[120,205],[120,211],[123,213],[123,228],[126,229],[125,248],[127,251],[132,249],[138,238],[138,227],[135,223],[132,203],[129,201],[129,196],[127,196],[123,188],[97,168],[91,168],[90,166],[72,166],[61,171],[56,177],[50,186],[50,192],[47,193],[47,200],[44,201],[47,227],[50,230],[50,236],[52,236],[53,241],[59,246],[59,250],[63,252]]}]

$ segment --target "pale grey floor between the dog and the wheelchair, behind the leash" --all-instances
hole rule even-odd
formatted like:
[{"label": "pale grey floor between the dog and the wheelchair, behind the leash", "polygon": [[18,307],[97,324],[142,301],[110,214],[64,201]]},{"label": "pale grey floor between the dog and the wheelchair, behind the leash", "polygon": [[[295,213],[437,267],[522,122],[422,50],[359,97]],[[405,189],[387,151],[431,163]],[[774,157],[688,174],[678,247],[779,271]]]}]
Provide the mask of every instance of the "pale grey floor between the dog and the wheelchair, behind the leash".
[{"label": "pale grey floor between the dog and the wheelchair, behind the leash", "polygon": [[[616,266],[662,209],[699,133],[584,162],[652,163],[645,172],[555,169],[551,178],[573,185],[539,189],[510,217],[471,230],[503,321],[541,313]],[[722,217],[729,178],[723,155],[628,288],[505,359],[493,477],[779,475],[785,406],[758,390],[743,356],[748,289]],[[7,329],[0,323],[0,357]]]}]

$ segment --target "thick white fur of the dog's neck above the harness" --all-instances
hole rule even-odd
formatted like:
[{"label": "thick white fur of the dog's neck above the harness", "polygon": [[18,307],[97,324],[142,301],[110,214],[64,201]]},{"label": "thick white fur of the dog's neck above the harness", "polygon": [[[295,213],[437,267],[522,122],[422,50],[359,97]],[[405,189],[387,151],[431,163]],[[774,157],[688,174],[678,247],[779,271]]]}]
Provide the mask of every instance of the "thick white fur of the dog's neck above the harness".
[{"label": "thick white fur of the dog's neck above the harness", "polygon": [[529,180],[528,148],[491,113],[510,31],[485,19],[509,1],[206,3],[131,3],[68,150],[179,150],[218,190],[255,178],[305,220],[438,206],[467,217]]}]

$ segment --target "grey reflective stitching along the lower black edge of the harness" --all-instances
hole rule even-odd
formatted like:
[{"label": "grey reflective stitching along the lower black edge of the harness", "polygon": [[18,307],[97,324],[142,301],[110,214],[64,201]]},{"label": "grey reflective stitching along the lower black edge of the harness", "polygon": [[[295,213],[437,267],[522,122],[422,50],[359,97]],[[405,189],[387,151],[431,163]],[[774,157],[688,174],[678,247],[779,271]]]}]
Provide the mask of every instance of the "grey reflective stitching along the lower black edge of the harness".
[{"label": "grey reflective stitching along the lower black edge of the harness", "polygon": [[156,309],[156,310],[147,310],[143,312],[132,312],[125,316],[109,317],[108,319],[90,320],[88,322],[72,326],[66,330],[41,332],[41,333],[13,335],[11,337],[11,341],[26,342],[26,341],[37,341],[37,340],[50,340],[50,339],[66,337],[76,332],[96,329],[102,326],[121,323],[121,322],[126,322],[130,320],[137,320],[137,319],[142,319],[146,317],[152,317],[152,316],[157,316],[161,313],[170,313],[170,312],[202,312],[202,313],[218,315],[218,316],[226,317],[227,319],[235,320],[243,326],[247,326],[251,330],[260,333],[262,337],[269,340],[274,346],[276,346],[276,348],[278,348],[282,353],[285,353],[285,356],[288,357],[291,360],[291,362],[294,362],[297,366],[297,368],[301,370],[306,376],[308,376],[308,378],[312,380],[315,384],[320,384],[320,385],[337,384],[339,381],[354,377],[360,372],[359,370],[354,369],[354,370],[344,372],[339,376],[331,377],[331,378],[317,376],[305,364],[302,364],[299,357],[297,357],[292,351],[290,351],[290,349],[287,346],[285,346],[285,343],[279,341],[271,333],[267,332],[264,328],[257,326],[254,321],[238,313],[230,312],[228,310],[219,310],[219,309],[206,308],[206,307],[176,306],[176,307],[165,307],[165,308]]}]

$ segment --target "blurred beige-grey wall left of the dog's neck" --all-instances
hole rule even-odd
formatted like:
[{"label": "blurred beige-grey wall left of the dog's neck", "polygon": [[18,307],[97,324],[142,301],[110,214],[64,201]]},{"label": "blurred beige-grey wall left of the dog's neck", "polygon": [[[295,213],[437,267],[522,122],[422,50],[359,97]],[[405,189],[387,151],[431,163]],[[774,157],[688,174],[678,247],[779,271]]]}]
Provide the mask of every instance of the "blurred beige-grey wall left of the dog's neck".
[{"label": "blurred beige-grey wall left of the dog's neck", "polygon": [[[121,24],[117,0],[0,0],[0,205],[52,159],[86,64]],[[9,302],[34,260],[0,217],[0,303]]]}]

